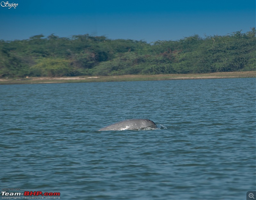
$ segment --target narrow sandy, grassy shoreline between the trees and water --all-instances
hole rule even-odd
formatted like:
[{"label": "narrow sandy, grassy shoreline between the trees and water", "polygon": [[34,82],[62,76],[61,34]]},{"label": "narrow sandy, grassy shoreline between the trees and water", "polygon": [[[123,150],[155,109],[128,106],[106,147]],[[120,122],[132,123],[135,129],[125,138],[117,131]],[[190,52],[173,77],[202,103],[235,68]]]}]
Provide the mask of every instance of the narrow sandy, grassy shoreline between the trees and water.
[{"label": "narrow sandy, grassy shoreline between the trees and water", "polygon": [[215,73],[205,73],[205,74],[157,74],[157,75],[137,75],[136,74],[136,75],[119,75],[119,76],[0,78],[0,85],[185,80],[185,79],[215,79],[215,78],[256,78],[256,71],[215,72]]}]

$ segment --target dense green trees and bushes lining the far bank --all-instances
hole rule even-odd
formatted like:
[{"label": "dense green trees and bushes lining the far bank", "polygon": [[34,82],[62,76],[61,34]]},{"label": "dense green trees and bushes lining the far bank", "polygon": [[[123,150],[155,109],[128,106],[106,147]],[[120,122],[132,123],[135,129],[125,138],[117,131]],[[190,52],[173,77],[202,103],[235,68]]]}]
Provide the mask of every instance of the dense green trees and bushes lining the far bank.
[{"label": "dense green trees and bushes lining the far bank", "polygon": [[0,77],[205,73],[256,70],[255,28],[179,41],[54,34],[0,41]]}]

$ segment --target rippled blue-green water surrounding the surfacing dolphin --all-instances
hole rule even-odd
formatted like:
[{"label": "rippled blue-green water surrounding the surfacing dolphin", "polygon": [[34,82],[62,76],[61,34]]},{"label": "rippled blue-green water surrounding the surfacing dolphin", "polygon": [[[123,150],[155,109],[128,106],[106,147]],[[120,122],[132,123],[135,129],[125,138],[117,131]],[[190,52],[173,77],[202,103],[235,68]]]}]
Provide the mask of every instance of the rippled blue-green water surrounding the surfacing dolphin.
[{"label": "rippled blue-green water surrounding the surfacing dolphin", "polygon": [[[245,199],[255,78],[0,85],[0,186],[60,199]],[[96,131],[131,118],[161,130]]]}]

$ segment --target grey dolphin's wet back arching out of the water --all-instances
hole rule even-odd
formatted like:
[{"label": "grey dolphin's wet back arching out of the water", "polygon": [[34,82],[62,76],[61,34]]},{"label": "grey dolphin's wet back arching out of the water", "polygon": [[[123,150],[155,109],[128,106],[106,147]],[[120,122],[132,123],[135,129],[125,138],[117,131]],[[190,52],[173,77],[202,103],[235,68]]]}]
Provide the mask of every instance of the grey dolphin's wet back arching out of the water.
[{"label": "grey dolphin's wet back arching out of the water", "polygon": [[156,127],[155,122],[149,119],[128,119],[121,122],[117,122],[111,124],[109,126],[105,126],[98,131],[101,130],[138,130],[145,129],[147,127]]}]

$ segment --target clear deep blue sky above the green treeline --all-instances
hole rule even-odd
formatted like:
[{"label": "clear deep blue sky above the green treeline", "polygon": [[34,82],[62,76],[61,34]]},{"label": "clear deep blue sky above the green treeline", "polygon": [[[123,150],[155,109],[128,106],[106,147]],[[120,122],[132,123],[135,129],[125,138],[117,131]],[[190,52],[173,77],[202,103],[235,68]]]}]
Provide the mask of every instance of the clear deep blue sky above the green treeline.
[{"label": "clear deep blue sky above the green treeline", "polygon": [[[3,7],[18,4],[14,9]],[[52,33],[153,42],[255,27],[255,0],[4,0],[0,40]]]}]

